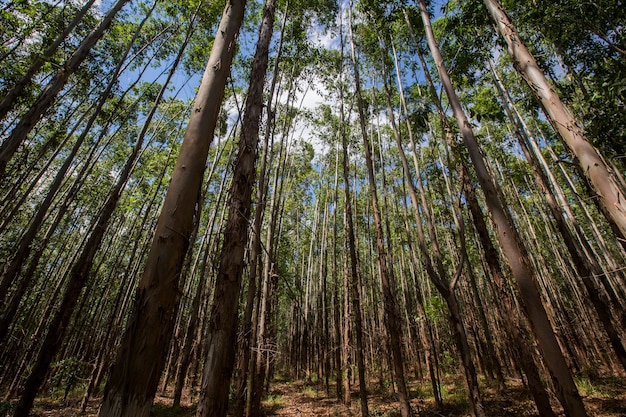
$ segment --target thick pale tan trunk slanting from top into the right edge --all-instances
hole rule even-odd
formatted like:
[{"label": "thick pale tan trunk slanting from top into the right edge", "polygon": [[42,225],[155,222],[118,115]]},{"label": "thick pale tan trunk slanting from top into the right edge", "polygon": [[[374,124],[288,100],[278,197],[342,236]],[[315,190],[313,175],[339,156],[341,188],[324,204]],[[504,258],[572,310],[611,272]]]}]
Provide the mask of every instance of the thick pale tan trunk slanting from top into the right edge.
[{"label": "thick pale tan trunk slanting from top into the right edge", "polygon": [[587,140],[581,124],[563,104],[535,58],[520,39],[498,0],[484,0],[498,31],[504,37],[513,59],[513,67],[528,83],[535,97],[541,102],[550,123],[573,155],[585,176],[596,201],[611,224],[622,246],[626,247],[626,190],[605,163],[599,151]]}]

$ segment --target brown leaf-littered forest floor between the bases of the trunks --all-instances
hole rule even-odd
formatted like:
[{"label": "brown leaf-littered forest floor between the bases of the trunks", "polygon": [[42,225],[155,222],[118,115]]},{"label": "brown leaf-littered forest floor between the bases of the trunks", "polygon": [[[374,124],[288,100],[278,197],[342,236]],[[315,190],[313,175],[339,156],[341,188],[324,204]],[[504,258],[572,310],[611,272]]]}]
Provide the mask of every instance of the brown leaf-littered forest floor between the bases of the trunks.
[{"label": "brown leaf-littered forest floor between the bases of the trunks", "polygon": [[[578,380],[578,387],[584,398],[589,416],[595,417],[626,417],[626,380],[600,379],[591,382],[588,379]],[[376,389],[378,384],[372,381],[372,392],[368,396],[371,417],[400,416],[397,397],[388,389]],[[522,387],[521,381],[507,381],[507,388],[498,392],[495,387],[482,384],[485,413],[493,417],[531,417],[537,416],[532,398]],[[323,384],[309,381],[288,381],[278,379],[270,387],[270,393],[263,402],[265,415],[270,416],[360,416],[358,392],[352,393],[352,404],[348,407],[336,400],[334,385],[331,395],[327,395]],[[444,379],[444,405],[437,407],[432,398],[432,390],[427,382],[410,381],[411,405],[416,415],[421,417],[465,417],[469,416],[469,406],[465,397],[465,388],[461,375],[448,376]],[[430,395],[429,395],[430,391]],[[74,417],[79,415],[79,390],[76,395],[68,398],[67,404],[51,395],[39,399],[35,403],[32,416],[37,417]],[[185,393],[187,394],[187,393]],[[62,398],[62,395],[61,395]],[[82,416],[95,417],[101,398],[89,402]],[[189,395],[183,396],[183,406],[178,409],[171,407],[172,395],[166,392],[157,396],[151,415],[154,417],[193,417],[195,407]],[[560,408],[555,405],[557,415]],[[3,411],[0,407],[0,416]],[[5,410],[6,411],[6,410]],[[10,415],[10,414],[7,414]]]}]

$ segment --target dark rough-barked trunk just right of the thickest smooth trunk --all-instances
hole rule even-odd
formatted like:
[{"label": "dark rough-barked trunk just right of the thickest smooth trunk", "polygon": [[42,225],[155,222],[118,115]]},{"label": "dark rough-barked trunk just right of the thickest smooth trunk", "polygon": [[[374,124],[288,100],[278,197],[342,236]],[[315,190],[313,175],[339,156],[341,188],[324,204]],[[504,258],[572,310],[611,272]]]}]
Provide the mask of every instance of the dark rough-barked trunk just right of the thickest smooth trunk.
[{"label": "dark rough-barked trunk just right of the thickest smooth trunk", "polygon": [[263,11],[259,40],[252,63],[239,154],[235,163],[228,220],[215,282],[215,295],[208,329],[208,352],[197,417],[224,416],[228,409],[230,380],[235,362],[237,307],[247,246],[248,224],[258,156],[259,122],[263,110],[263,88],[269,45],[274,32],[276,0],[268,0]]}]

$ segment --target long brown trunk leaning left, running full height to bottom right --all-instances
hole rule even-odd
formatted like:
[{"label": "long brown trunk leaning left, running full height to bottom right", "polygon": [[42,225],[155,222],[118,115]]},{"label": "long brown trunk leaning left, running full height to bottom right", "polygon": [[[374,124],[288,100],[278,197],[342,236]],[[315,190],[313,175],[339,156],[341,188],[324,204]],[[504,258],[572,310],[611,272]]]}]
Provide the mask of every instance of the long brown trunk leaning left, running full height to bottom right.
[{"label": "long brown trunk leaning left, running full height to bottom right", "polygon": [[517,283],[525,311],[530,319],[532,330],[539,342],[539,348],[544,361],[554,378],[557,390],[556,394],[568,416],[586,417],[587,412],[585,411],[584,404],[578,394],[574,379],[572,378],[572,374],[567,366],[563,352],[561,352],[552,325],[548,320],[548,315],[542,304],[535,273],[521,246],[519,234],[515,227],[513,227],[513,223],[506,209],[500,202],[494,178],[487,170],[480,145],[474,136],[471,125],[465,116],[465,112],[443,64],[443,57],[441,56],[439,46],[432,32],[429,23],[430,17],[426,10],[424,0],[419,0],[419,6],[426,29],[426,38],[439,72],[439,77],[446,91],[446,95],[448,96],[448,101],[450,102],[450,107],[452,108],[454,117],[459,126],[463,142],[467,147],[470,159],[476,170],[478,181],[485,194],[487,207],[496,225],[498,241],[511,267],[511,272]]}]

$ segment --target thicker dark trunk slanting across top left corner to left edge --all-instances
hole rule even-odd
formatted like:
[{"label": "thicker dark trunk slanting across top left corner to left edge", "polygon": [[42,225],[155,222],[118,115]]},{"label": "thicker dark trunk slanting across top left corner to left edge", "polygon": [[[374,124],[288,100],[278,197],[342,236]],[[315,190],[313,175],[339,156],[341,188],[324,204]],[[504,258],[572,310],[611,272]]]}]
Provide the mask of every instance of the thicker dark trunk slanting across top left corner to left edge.
[{"label": "thicker dark trunk slanting across top left corner to left edge", "polygon": [[106,32],[109,26],[111,26],[115,16],[127,2],[128,0],[117,0],[117,2],[115,2],[98,26],[85,37],[72,56],[63,64],[63,67],[55,74],[52,80],[50,80],[28,112],[22,116],[10,136],[2,143],[2,146],[0,146],[0,178],[4,177],[7,163],[24,142],[26,136],[33,127],[35,127],[39,118],[52,106],[57,94],[65,86],[70,75],[76,72],[80,64],[87,58],[91,49],[100,40],[102,35],[104,35],[104,32]]}]

